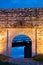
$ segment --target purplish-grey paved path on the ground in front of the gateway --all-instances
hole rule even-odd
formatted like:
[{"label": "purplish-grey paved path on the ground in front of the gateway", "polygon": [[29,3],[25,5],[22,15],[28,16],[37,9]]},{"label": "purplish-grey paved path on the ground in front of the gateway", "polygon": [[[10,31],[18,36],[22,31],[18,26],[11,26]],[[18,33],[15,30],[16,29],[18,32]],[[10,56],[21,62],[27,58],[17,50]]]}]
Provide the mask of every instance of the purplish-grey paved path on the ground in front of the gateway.
[{"label": "purplish-grey paved path on the ground in front of the gateway", "polygon": [[43,65],[43,62],[35,61],[33,59],[10,59],[8,62],[12,62],[17,65]]}]

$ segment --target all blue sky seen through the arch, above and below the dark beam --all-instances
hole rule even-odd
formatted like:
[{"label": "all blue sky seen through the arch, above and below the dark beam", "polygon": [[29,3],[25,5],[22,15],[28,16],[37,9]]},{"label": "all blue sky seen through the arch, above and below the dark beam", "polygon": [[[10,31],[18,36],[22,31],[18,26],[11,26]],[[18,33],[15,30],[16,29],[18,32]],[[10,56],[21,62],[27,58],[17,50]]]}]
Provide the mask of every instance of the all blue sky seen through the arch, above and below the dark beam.
[{"label": "all blue sky seen through the arch, above and below the dark beam", "polygon": [[[23,40],[25,40],[25,42],[31,41],[31,39],[28,36],[26,36],[24,34],[20,34],[13,38],[12,43],[15,44],[15,42],[24,42]],[[12,56],[11,57],[24,58],[24,47],[25,46],[12,47]]]}]

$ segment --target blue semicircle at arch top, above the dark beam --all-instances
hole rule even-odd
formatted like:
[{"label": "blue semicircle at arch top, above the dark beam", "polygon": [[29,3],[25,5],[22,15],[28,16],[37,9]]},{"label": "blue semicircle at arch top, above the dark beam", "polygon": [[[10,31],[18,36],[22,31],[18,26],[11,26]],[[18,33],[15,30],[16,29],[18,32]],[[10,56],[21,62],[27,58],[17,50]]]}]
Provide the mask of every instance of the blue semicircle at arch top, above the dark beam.
[{"label": "blue semicircle at arch top, above the dark beam", "polygon": [[20,35],[17,35],[13,38],[12,42],[29,42],[31,41],[30,37],[24,35],[24,34],[20,34]]}]

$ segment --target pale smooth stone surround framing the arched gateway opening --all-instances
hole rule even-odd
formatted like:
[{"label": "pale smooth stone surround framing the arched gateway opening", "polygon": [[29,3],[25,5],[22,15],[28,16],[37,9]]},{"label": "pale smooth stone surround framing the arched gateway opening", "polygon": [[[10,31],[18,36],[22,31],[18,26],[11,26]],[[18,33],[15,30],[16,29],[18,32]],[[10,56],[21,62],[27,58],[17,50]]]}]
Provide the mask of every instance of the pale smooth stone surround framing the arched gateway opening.
[{"label": "pale smooth stone surround framing the arched gateway opening", "polygon": [[8,56],[12,54],[12,39],[20,34],[26,35],[32,40],[32,56],[35,56],[35,29],[31,28],[8,29]]}]

